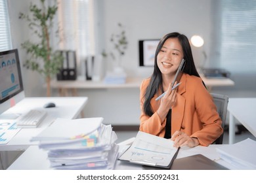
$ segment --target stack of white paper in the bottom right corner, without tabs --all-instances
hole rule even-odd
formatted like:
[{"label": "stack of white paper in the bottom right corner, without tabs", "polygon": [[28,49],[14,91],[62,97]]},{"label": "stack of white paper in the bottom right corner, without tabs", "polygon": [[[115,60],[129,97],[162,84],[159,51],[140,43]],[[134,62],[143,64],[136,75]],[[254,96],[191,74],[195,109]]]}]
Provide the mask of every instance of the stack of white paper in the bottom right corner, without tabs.
[{"label": "stack of white paper in the bottom right corner, without tabs", "polygon": [[217,148],[220,158],[237,169],[256,169],[256,141],[246,139],[232,145]]}]

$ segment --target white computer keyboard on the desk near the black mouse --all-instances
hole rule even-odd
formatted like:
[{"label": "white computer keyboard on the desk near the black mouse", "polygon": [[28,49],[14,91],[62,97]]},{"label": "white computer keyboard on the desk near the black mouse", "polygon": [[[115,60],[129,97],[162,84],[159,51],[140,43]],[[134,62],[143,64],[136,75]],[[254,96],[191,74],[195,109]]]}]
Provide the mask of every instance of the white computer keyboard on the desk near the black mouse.
[{"label": "white computer keyboard on the desk near the black mouse", "polygon": [[37,127],[47,116],[43,110],[30,110],[26,114],[18,117],[16,120],[17,127]]}]

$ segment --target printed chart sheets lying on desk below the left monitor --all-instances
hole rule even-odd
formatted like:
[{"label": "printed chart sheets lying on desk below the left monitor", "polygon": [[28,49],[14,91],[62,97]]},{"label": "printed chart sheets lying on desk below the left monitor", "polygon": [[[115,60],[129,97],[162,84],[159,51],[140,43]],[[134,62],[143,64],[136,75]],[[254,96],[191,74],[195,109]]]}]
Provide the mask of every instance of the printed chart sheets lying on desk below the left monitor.
[{"label": "printed chart sheets lying on desk below the left monitor", "polygon": [[11,120],[0,120],[0,144],[7,144],[20,131]]}]

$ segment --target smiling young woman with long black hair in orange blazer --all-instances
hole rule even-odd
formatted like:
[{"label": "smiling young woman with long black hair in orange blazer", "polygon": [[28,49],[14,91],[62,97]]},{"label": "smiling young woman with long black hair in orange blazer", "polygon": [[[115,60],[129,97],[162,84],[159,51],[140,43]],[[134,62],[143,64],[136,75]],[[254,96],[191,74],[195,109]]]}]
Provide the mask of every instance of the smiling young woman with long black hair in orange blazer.
[{"label": "smiling young woman with long black hair in orange blazer", "polygon": [[[171,90],[182,59],[186,65],[181,84]],[[154,63],[152,76],[140,86],[140,131],[171,139],[176,147],[213,143],[223,133],[222,121],[196,71],[188,38],[180,33],[165,35]],[[156,101],[163,92],[165,95]]]}]

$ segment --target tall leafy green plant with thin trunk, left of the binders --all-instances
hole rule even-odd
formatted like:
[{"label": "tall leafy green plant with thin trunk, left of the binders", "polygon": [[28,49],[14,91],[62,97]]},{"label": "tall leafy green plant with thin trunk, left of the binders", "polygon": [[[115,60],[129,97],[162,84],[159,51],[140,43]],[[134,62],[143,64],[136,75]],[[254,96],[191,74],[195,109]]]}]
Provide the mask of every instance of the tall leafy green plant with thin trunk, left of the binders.
[{"label": "tall leafy green plant with thin trunk, left of the binders", "polygon": [[51,33],[53,31],[53,20],[58,7],[47,6],[45,0],[40,0],[41,7],[30,4],[28,14],[20,13],[19,18],[26,20],[37,39],[22,43],[29,56],[24,67],[37,71],[45,77],[47,82],[47,96],[51,96],[51,78],[56,76],[62,67],[63,57],[51,46]]}]

